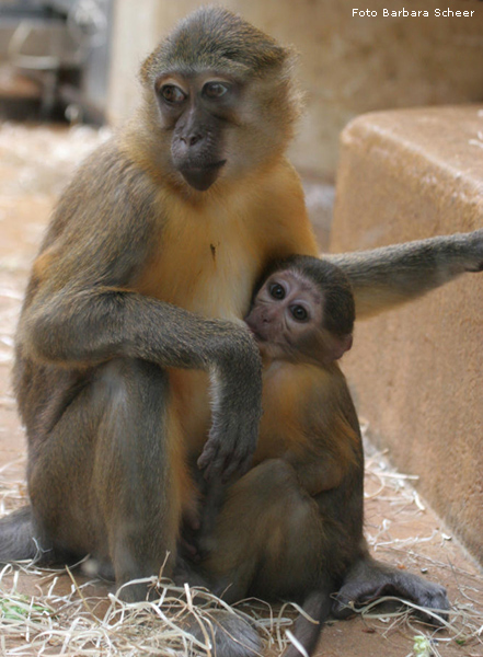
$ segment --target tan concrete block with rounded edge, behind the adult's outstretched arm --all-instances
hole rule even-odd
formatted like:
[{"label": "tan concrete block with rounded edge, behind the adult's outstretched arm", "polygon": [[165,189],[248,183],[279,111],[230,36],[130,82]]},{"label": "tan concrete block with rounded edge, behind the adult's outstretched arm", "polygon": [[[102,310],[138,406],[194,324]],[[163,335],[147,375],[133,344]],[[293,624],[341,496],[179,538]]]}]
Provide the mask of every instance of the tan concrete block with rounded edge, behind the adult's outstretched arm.
[{"label": "tan concrete block with rounded edge, behind the adult's outstretched arm", "polygon": [[[343,134],[332,251],[483,228],[483,105],[357,118]],[[483,273],[356,322],[343,369],[389,447],[483,564]]]}]

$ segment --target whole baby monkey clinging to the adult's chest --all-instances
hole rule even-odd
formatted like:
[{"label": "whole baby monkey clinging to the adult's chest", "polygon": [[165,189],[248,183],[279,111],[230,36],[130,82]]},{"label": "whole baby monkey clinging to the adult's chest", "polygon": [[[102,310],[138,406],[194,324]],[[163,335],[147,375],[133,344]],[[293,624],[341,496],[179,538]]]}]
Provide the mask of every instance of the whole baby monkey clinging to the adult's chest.
[{"label": "whole baby monkey clinging to the adult's chest", "polygon": [[[207,485],[192,584],[200,574],[229,602],[291,599],[325,620],[364,545],[359,425],[336,362],[352,347],[354,321],[350,284],[336,265],[297,255],[264,273],[245,318],[264,362],[258,447],[241,480]],[[253,527],[235,508],[240,496]],[[300,616],[296,636],[309,653],[319,632]]]}]

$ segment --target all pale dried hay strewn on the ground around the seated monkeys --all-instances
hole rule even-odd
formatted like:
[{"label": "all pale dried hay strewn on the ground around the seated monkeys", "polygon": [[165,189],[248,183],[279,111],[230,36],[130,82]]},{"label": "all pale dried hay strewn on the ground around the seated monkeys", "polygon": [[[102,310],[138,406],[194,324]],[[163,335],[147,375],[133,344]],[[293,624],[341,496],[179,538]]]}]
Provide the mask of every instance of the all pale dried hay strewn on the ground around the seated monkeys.
[{"label": "all pale dried hay strewn on the ground around the seated monkeys", "polygon": [[[368,500],[384,499],[396,509],[412,506],[415,512],[421,512],[424,505],[410,485],[414,477],[391,470],[383,453],[375,452],[369,446],[367,451]],[[14,465],[16,471],[19,463]],[[1,514],[25,500],[24,482],[7,475],[8,466],[4,466],[0,470]],[[386,530],[382,521],[376,532],[368,535],[376,552],[390,550],[405,556],[417,556],[417,563],[423,561],[432,567],[449,568],[455,578],[463,576],[465,584],[458,585],[458,601],[442,627],[435,629],[417,620],[411,611],[419,608],[412,603],[406,603],[401,610],[388,611],[386,602],[399,603],[401,600],[387,597],[354,610],[363,618],[367,631],[388,638],[394,630],[402,631],[413,637],[411,655],[415,657],[441,657],[440,650],[445,654],[444,648],[455,643],[464,645],[465,655],[481,657],[483,578],[418,554],[417,544],[432,540],[432,535],[388,541]],[[424,567],[421,569],[425,570]],[[279,654],[292,641],[290,627],[297,614],[301,613],[295,604],[271,607],[253,599],[229,607],[205,589],[175,587],[162,577],[162,573],[159,578],[145,580],[157,587],[158,600],[127,604],[114,593],[107,593],[107,597],[93,595],[96,585],[99,590],[99,583],[81,583],[69,569],[71,586],[66,593],[65,573],[66,569],[41,569],[35,564],[8,565],[0,572],[0,650],[3,655],[210,656],[209,629],[217,624],[220,610],[250,620],[262,636],[264,653]],[[64,586],[59,586],[62,574]],[[38,595],[21,592],[25,577],[31,580],[31,588],[33,583],[38,589]],[[421,611],[428,613],[427,610]],[[429,615],[433,615],[432,612]],[[193,626],[194,619],[205,627],[204,642],[195,639],[184,629],[187,623]]]}]

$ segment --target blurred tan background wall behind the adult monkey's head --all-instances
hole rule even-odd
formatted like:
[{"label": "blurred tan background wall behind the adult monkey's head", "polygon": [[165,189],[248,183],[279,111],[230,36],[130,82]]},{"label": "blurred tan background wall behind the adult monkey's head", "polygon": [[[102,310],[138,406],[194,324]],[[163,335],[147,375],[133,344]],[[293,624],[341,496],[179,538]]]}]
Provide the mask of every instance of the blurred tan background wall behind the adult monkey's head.
[{"label": "blurred tan background wall behind the adult monkey's head", "polygon": [[[142,58],[197,0],[117,0],[108,115],[123,120],[137,99]],[[307,114],[291,157],[299,170],[331,180],[338,134],[371,110],[483,100],[483,3],[479,0],[226,0],[223,5],[300,53]],[[353,9],[377,18],[353,18]],[[429,18],[383,18],[384,7]],[[435,8],[473,18],[435,18]]]}]

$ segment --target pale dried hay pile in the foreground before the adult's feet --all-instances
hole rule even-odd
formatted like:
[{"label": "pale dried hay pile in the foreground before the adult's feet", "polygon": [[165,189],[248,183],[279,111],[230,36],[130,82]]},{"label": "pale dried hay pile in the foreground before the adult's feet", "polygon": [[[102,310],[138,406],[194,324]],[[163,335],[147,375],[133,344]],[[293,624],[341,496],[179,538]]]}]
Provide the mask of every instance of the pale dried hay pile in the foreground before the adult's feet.
[{"label": "pale dried hay pile in the foreground before the adult's feet", "polygon": [[[18,591],[19,573],[41,576],[48,585],[45,593],[24,596]],[[5,584],[12,575],[12,583]],[[105,598],[84,595],[91,583],[78,585],[72,578],[68,595],[57,593],[58,573],[20,566],[5,566],[0,574],[0,646],[4,655],[99,656],[206,656],[211,655],[210,630],[217,625],[217,612],[223,610],[256,625],[266,646],[281,650],[286,639],[283,631],[291,625],[295,614],[287,607],[274,616],[271,608],[260,601],[229,607],[205,589],[175,587],[160,577],[143,579],[157,588],[156,601],[125,603],[117,595]],[[196,622],[204,641],[198,641],[184,627]]]}]

